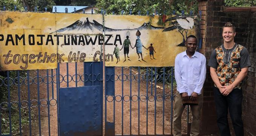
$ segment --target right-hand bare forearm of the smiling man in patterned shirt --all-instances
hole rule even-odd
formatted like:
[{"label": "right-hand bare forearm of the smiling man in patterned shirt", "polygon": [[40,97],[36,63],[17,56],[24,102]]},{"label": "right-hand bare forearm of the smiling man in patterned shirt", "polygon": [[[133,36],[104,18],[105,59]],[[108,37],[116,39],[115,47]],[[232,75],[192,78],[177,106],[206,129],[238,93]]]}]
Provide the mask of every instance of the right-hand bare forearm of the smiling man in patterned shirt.
[{"label": "right-hand bare forearm of the smiling man in patterned shirt", "polygon": [[225,91],[222,93],[224,96],[227,96],[229,93],[232,92],[232,90],[238,86],[239,83],[242,82],[242,80],[245,78],[248,72],[248,67],[242,68],[239,72],[238,76],[236,77],[235,81],[230,84],[229,86],[226,86]]}]

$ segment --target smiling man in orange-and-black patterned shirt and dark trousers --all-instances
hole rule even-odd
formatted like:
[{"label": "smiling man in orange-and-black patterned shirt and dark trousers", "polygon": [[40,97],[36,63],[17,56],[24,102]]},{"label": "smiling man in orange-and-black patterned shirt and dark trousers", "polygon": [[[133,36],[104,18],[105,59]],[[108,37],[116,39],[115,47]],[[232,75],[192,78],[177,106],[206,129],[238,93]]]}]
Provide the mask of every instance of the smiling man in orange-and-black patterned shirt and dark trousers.
[{"label": "smiling man in orange-and-black patterned shirt and dark trousers", "polygon": [[214,85],[217,124],[221,136],[230,136],[228,110],[236,136],[244,136],[241,82],[251,66],[248,50],[234,42],[236,28],[227,22],[222,28],[224,44],[213,50],[208,66]]}]

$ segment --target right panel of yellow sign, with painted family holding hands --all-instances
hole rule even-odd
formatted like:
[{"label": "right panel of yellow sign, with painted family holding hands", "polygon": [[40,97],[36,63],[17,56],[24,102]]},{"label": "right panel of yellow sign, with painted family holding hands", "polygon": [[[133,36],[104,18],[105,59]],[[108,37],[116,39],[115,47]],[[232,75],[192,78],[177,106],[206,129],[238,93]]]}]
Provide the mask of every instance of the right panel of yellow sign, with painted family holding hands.
[{"label": "right panel of yellow sign, with painted family holding hands", "polygon": [[[192,17],[168,17],[170,22],[158,26],[158,17],[106,15],[106,66],[174,66],[175,57],[185,50],[185,38],[198,37],[199,24]],[[118,36],[117,36],[118,35]],[[115,46],[117,45],[117,46]]]}]

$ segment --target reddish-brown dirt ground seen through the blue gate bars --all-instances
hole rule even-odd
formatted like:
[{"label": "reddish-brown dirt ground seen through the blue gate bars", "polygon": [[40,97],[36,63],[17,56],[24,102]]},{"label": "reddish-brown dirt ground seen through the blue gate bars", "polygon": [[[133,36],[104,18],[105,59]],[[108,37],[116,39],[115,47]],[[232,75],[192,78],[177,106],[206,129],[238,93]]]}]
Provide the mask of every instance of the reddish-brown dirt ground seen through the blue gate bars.
[{"label": "reddish-brown dirt ground seen through the blue gate bars", "polygon": [[[56,70],[53,70],[53,75],[55,75]],[[78,63],[77,65],[77,74],[82,75],[83,74],[83,63]],[[115,73],[117,75],[121,75],[121,67],[115,68]],[[123,71],[124,75],[129,75],[130,71],[128,67],[124,67]],[[60,64],[60,74],[63,75],[64,79],[66,80],[66,63]],[[136,75],[138,74],[137,69],[132,69],[132,74]],[[44,81],[46,81],[46,70],[40,70],[39,75],[44,78]],[[75,63],[69,63],[69,75],[75,75]],[[37,71],[32,70],[30,72],[31,77],[37,76]],[[51,70],[49,70],[49,76],[51,76]],[[42,81],[42,78],[39,79],[39,81]],[[116,76],[117,78],[117,76]],[[121,78],[121,76],[120,76]],[[124,77],[125,78],[125,77]],[[129,76],[128,76],[129,78]],[[142,78],[142,77],[141,77]],[[136,79],[138,79],[138,76],[136,76]],[[53,78],[54,82],[56,83],[56,76]],[[69,77],[69,80],[71,78]],[[34,79],[34,82],[37,82],[37,79]],[[51,78],[49,78],[49,82],[51,82]],[[48,105],[46,101],[41,101],[41,105],[46,105],[45,107],[40,106],[40,117],[38,117],[38,106],[37,103],[34,101],[31,105],[34,105],[35,107],[31,107],[31,109],[34,111],[32,112],[33,115],[31,115],[31,122],[32,122],[32,136],[40,136],[39,131],[41,132],[41,136],[57,136],[58,134],[58,128],[57,128],[57,105],[56,105],[56,98],[57,98],[57,91],[56,91],[56,84],[49,83],[41,83],[39,85],[39,94],[40,94],[40,100],[42,99],[48,99],[50,101],[49,111],[48,111]],[[78,82],[78,86],[83,86],[83,81]],[[49,87],[49,89],[48,89]],[[60,87],[67,87],[67,84],[65,82],[60,83]],[[69,82],[69,87],[75,87],[75,82],[71,81]],[[130,96],[130,93],[133,95],[140,96],[141,101],[135,101],[137,98],[136,96],[133,96],[132,99],[135,101],[124,101],[123,102],[123,128],[122,128],[122,101],[118,102],[120,100],[120,97],[118,95],[122,96],[122,87],[123,87],[123,96],[128,95]],[[155,92],[156,87],[156,92]],[[30,96],[32,99],[38,99],[38,86],[37,84],[31,84],[30,86]],[[152,90],[151,90],[152,88]],[[28,87],[23,85],[21,87],[21,101],[28,99]],[[138,92],[139,90],[139,92]],[[163,93],[163,90],[165,91]],[[122,82],[118,79],[115,81],[115,111],[113,110],[113,102],[107,102],[107,121],[113,122],[113,113],[115,112],[115,134],[130,134],[130,129],[132,135],[137,134],[171,134],[172,130],[172,121],[171,121],[171,113],[172,113],[172,104],[174,105],[174,101],[170,101],[170,84],[166,84],[165,89],[163,89],[163,84],[158,83],[157,86],[155,86],[154,82],[151,84],[150,82],[146,82],[142,80],[139,83],[139,89],[138,89],[138,81],[133,80],[131,82],[131,89],[130,89],[130,81],[127,79],[126,81]],[[152,94],[151,94],[152,93]],[[153,96],[155,95],[159,101],[153,101]],[[173,94],[176,93],[176,87],[173,88]],[[103,93],[104,94],[104,93]],[[162,101],[162,95],[165,94],[166,101]],[[146,95],[149,96],[149,100],[152,101],[145,101]],[[150,96],[153,95],[153,96]],[[125,100],[129,100],[129,97],[126,96]],[[104,102],[104,101],[103,101]],[[130,104],[132,105],[130,107]],[[139,107],[139,108],[138,108]],[[103,108],[104,104],[103,104]],[[25,108],[28,111],[28,108]],[[131,111],[131,115],[130,115]],[[164,112],[163,112],[164,111]],[[104,112],[104,109],[103,109]],[[147,114],[148,113],[148,114]],[[49,118],[48,118],[49,114]],[[103,113],[103,119],[104,119],[104,113]],[[26,116],[29,117],[28,115]],[[24,117],[24,119],[26,119]],[[40,118],[40,122],[39,122]],[[131,118],[131,122],[130,122]],[[139,118],[139,119],[138,119]],[[189,122],[191,122],[192,117],[191,113],[189,116]],[[103,121],[104,122],[104,121]],[[130,126],[131,124],[131,126]],[[139,124],[139,125],[138,125]],[[40,128],[39,128],[40,126]],[[104,128],[104,124],[103,124]],[[25,127],[22,128],[23,136],[29,136],[29,125],[25,125]],[[172,130],[173,131],[173,130]],[[187,133],[187,108],[185,108],[184,113],[182,115],[182,133]],[[103,132],[104,134],[104,132]],[[19,135],[19,134],[17,134]],[[214,135],[211,135],[214,136]]]}]

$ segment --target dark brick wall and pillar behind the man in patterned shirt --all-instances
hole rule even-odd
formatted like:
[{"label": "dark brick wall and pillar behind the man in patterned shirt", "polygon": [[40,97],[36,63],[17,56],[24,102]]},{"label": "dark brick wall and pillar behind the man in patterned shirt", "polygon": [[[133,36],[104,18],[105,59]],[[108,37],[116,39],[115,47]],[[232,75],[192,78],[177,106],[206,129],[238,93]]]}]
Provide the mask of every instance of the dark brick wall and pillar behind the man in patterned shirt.
[{"label": "dark brick wall and pillar behind the man in patterned shirt", "polygon": [[[199,10],[202,11],[201,37],[203,38],[201,53],[207,58],[212,50],[223,43],[222,26],[227,21],[236,26],[235,42],[247,47],[250,53],[252,67],[243,82],[243,118],[245,131],[256,136],[256,12],[251,8],[224,7],[224,0],[199,0]],[[233,12],[236,11],[236,12]],[[213,81],[210,68],[207,67],[207,77],[204,84],[204,103],[202,107],[202,134],[218,133],[213,92]],[[230,124],[231,130],[233,129]]]}]

